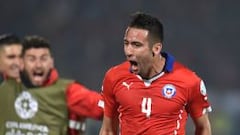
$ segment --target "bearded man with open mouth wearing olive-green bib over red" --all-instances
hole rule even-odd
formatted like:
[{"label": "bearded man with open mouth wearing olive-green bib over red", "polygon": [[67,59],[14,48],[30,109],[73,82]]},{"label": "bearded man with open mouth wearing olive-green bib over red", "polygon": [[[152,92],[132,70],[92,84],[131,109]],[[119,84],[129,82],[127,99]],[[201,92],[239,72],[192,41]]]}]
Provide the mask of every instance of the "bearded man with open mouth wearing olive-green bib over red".
[{"label": "bearded man with open mouth wearing olive-green bib over red", "polygon": [[[74,80],[59,78],[54,67],[50,44],[44,38],[26,37],[23,42],[22,59],[23,85],[19,86],[12,81],[6,81],[5,85],[0,87],[1,90],[14,87],[15,90],[9,90],[9,92],[11,95],[17,95],[17,97],[10,97],[11,100],[6,99],[9,100],[10,105],[14,104],[14,106],[1,113],[4,120],[0,125],[4,127],[0,127],[0,132],[73,135],[77,133],[73,131],[74,129],[85,130],[85,118],[102,118],[101,95]],[[82,123],[69,120],[69,112],[70,116],[76,118],[77,115],[78,120],[79,118],[83,120]],[[68,122],[70,122],[69,125]],[[32,125],[34,128],[13,127],[12,123]],[[71,131],[67,131],[68,126],[72,129]]]}]

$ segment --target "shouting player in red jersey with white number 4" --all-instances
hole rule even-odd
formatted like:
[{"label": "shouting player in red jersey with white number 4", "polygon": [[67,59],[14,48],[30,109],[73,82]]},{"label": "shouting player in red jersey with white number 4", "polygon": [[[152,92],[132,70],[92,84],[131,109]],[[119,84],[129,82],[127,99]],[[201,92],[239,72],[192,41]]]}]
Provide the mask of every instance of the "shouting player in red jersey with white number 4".
[{"label": "shouting player in red jersey with white number 4", "polygon": [[184,135],[188,114],[196,135],[211,135],[203,80],[162,48],[161,22],[136,13],[124,35],[127,61],[103,81],[100,135]]}]

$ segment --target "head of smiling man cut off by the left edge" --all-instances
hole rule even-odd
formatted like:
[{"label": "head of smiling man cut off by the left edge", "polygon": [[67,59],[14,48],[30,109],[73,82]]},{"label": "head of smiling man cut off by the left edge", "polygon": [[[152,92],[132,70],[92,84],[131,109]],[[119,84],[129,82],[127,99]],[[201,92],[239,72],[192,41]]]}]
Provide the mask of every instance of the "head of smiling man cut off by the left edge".
[{"label": "head of smiling man cut off by the left edge", "polygon": [[16,35],[0,35],[0,73],[2,79],[13,78],[20,81],[21,51],[22,44]]}]

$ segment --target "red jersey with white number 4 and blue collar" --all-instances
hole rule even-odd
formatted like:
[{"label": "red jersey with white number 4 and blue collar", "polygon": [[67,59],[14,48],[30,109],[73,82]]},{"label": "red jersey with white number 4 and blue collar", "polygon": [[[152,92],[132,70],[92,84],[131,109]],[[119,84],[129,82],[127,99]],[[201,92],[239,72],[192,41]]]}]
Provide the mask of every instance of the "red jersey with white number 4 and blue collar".
[{"label": "red jersey with white number 4 and blue collar", "polygon": [[149,80],[131,73],[129,62],[106,73],[104,115],[120,114],[121,135],[184,135],[188,113],[197,118],[211,110],[203,81],[165,57],[164,72]]}]

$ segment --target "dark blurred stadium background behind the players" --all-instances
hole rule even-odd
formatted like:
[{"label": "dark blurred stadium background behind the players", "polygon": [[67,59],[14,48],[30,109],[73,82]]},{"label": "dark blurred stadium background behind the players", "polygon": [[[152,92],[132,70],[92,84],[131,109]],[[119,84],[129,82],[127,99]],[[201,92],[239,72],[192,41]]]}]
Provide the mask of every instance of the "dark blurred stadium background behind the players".
[{"label": "dark blurred stadium background behind the players", "polygon": [[[164,50],[206,82],[213,134],[239,135],[239,4],[237,0],[1,0],[0,34],[48,38],[60,74],[100,91],[106,70],[125,59],[122,39],[129,15],[135,11],[155,15],[165,27]],[[100,124],[89,120],[87,135],[96,135]]]}]

